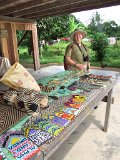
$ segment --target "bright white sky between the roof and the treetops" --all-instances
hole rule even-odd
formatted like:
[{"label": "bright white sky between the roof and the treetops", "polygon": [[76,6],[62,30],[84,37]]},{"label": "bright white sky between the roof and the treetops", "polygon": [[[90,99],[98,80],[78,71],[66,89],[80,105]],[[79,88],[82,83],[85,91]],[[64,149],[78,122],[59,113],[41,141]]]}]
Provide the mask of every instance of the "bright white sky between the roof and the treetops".
[{"label": "bright white sky between the roof and the treetops", "polygon": [[88,11],[81,11],[72,13],[77,19],[79,19],[84,25],[89,24],[91,18],[95,15],[96,11],[100,14],[103,22],[114,20],[118,25],[120,25],[120,5],[93,9]]}]

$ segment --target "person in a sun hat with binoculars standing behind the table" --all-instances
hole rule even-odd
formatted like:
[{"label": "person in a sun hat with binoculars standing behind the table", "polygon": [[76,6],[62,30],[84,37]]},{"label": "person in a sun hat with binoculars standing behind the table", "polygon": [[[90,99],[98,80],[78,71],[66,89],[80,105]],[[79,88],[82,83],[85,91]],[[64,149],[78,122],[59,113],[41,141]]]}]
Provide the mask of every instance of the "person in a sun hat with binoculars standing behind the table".
[{"label": "person in a sun hat with binoculars standing behind the table", "polygon": [[77,28],[71,34],[70,39],[73,41],[66,47],[65,51],[65,70],[89,71],[88,48],[82,43],[86,32]]}]

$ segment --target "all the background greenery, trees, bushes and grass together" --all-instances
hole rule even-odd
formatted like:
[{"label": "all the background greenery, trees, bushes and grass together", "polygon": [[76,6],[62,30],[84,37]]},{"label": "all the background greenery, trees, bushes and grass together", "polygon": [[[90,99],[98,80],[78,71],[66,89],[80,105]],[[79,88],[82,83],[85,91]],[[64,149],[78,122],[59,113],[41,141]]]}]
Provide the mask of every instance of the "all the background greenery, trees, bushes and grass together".
[{"label": "all the background greenery, trees, bushes and grass together", "polygon": [[[92,44],[85,42],[90,49],[91,65],[100,66],[102,63],[107,63],[110,67],[120,67],[120,41],[108,47],[106,37],[106,35],[117,36],[117,39],[120,40],[120,26],[114,21],[102,23],[98,12],[92,17],[88,27],[82,24],[81,21],[76,19],[73,15],[61,15],[39,19],[37,20],[37,27],[39,41],[46,40],[46,44],[57,38],[64,37],[68,39],[70,33],[79,27],[88,33],[88,37],[93,39]],[[24,36],[25,32],[26,31],[17,31],[18,42]],[[106,35],[103,34],[103,32]],[[28,54],[32,46],[30,39],[31,32],[27,34],[19,47],[20,62],[33,63],[32,54]],[[40,47],[40,63],[63,63],[63,56],[68,43],[70,42],[60,41],[60,43],[55,43],[52,46],[43,45],[43,47]]]}]

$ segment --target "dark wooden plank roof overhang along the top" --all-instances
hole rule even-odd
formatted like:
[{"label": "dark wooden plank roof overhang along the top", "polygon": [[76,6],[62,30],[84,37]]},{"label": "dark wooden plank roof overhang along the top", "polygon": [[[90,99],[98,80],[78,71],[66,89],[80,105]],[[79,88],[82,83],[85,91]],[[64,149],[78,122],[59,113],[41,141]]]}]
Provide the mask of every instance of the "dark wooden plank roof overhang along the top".
[{"label": "dark wooden plank roof overhang along the top", "polygon": [[120,0],[0,0],[0,17],[37,19],[120,5]]}]

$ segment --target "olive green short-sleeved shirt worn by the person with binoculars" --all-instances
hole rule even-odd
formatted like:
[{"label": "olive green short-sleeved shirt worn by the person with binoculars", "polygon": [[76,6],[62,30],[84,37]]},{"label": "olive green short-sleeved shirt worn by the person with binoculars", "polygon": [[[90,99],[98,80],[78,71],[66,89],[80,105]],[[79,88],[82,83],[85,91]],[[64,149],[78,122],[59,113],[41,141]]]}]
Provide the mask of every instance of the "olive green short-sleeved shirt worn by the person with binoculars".
[{"label": "olive green short-sleeved shirt worn by the person with binoculars", "polygon": [[[83,55],[84,57],[88,55],[88,48],[83,44],[81,44],[80,48],[76,43],[70,43],[66,47],[65,57],[71,57],[75,63],[85,64],[86,62],[83,60]],[[79,71],[77,67],[70,64],[67,65],[69,70]]]}]

